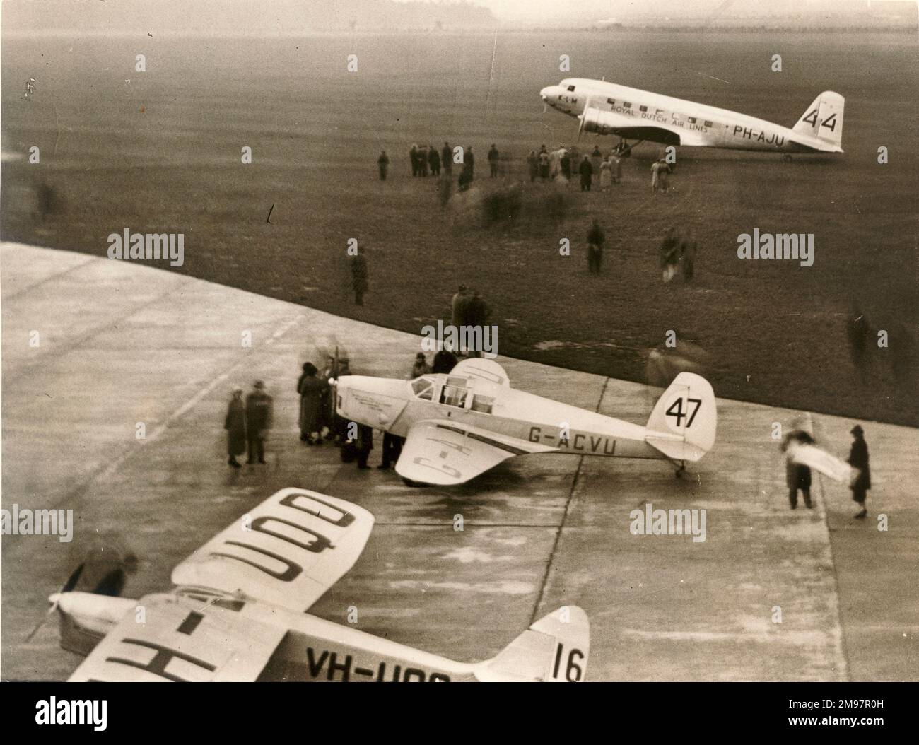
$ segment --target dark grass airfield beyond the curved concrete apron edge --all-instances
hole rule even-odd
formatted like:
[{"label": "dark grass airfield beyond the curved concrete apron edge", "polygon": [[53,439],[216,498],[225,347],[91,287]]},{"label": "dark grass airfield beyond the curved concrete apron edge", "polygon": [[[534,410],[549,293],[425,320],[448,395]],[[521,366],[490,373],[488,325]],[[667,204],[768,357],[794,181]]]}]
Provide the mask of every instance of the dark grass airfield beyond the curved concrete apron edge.
[{"label": "dark grass airfield beyond the curved concrete apron edge", "polygon": [[[135,55],[147,72],[134,71]],[[773,54],[783,60],[773,73]],[[103,255],[125,227],[186,235],[176,273],[419,333],[448,313],[459,283],[494,308],[507,356],[643,381],[650,349],[675,330],[709,355],[720,396],[860,420],[915,425],[915,42],[902,34],[418,32],[280,40],[4,38],[2,230],[6,240]],[[357,54],[357,73],[346,58]],[[559,72],[569,54],[570,73]],[[547,185],[525,186],[516,222],[442,213],[432,179],[413,179],[412,142],[472,146],[476,188],[495,142],[501,182],[525,179],[526,153],[571,142],[576,122],[542,112],[539,88],[601,77],[792,126],[815,96],[846,98],[834,158],[791,164],[758,153],[678,152],[674,193],[652,198],[643,145],[610,194],[566,193],[567,217],[541,216]],[[34,99],[22,97],[35,77]],[[592,147],[594,138],[582,144]],[[597,140],[603,147],[613,138]],[[40,146],[40,165],[25,153]],[[890,163],[879,165],[879,146]],[[252,164],[240,160],[253,148]],[[381,148],[391,178],[376,177]],[[54,209],[36,211],[41,185]],[[273,209],[272,209],[273,208]],[[271,223],[267,215],[271,212]],[[607,230],[601,277],[584,235]],[[692,226],[693,285],[664,286],[657,247]],[[812,232],[814,265],[743,262],[754,227]],[[347,290],[345,247],[369,252],[363,308]],[[562,238],[573,246],[559,255]],[[888,349],[862,381],[845,337],[852,299]],[[891,357],[905,355],[894,376]]]}]

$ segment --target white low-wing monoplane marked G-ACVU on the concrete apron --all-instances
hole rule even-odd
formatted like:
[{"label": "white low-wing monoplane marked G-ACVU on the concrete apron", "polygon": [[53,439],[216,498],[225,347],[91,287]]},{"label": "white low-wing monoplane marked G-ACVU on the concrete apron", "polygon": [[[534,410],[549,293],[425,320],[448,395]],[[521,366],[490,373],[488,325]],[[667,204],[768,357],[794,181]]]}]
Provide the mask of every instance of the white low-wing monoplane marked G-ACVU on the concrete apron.
[{"label": "white low-wing monoplane marked G-ACVU on the concrete apron", "polygon": [[396,472],[410,485],[465,483],[528,453],[664,458],[679,470],[714,445],[709,381],[680,373],[646,426],[510,387],[503,367],[465,359],[414,380],[349,375],[336,383],[339,416],[405,437]]}]

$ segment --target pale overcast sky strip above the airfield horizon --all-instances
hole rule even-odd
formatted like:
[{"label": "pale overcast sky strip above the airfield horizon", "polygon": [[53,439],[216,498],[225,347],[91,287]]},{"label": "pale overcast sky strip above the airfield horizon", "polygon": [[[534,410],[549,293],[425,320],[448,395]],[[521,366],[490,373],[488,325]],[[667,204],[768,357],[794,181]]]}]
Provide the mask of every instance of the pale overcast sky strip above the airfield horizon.
[{"label": "pale overcast sky strip above the airfield horizon", "polygon": [[[391,2],[406,0],[3,0],[0,21],[7,33],[40,29],[66,29],[74,33],[133,33],[154,28],[165,34],[297,33],[310,28],[347,28],[356,21],[360,28],[402,28],[413,22],[433,27],[437,6],[424,11],[400,8]],[[455,2],[455,0],[454,0]],[[788,18],[808,25],[821,17],[845,17],[857,24],[859,17],[879,14],[902,16],[907,2],[884,0],[471,0],[491,10],[501,26],[560,28],[595,25],[598,21],[630,23],[652,19],[701,24],[750,18]],[[490,25],[494,19],[463,11],[452,2],[441,12],[445,27],[456,28],[466,19]],[[896,9],[894,9],[896,6]],[[913,10],[914,14],[914,10]]]}]

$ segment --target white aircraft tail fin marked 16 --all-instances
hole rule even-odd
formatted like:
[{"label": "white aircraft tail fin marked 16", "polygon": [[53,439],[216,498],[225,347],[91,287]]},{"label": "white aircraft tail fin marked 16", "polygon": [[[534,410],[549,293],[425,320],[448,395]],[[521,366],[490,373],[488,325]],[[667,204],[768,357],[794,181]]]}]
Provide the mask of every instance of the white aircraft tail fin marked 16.
[{"label": "white aircraft tail fin marked 16", "polygon": [[483,683],[580,683],[589,653],[587,614],[576,605],[565,605],[540,618],[496,657],[482,662],[475,677]]}]

